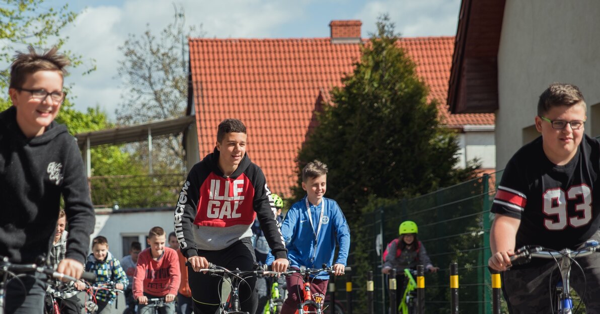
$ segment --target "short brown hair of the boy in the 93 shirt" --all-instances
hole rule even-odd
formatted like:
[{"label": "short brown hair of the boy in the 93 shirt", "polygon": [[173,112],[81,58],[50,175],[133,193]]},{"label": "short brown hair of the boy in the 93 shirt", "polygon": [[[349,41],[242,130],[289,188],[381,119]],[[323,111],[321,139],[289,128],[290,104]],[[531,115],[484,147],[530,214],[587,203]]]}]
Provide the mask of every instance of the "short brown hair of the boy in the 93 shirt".
[{"label": "short brown hair of the boy in the 93 shirt", "polygon": [[551,107],[570,107],[575,104],[581,104],[583,109],[587,111],[586,100],[584,100],[583,94],[577,86],[566,83],[552,83],[539,95],[538,115],[544,115]]}]

